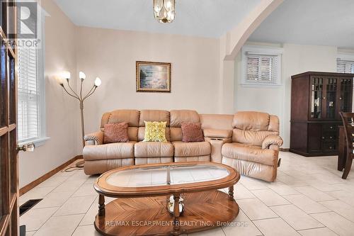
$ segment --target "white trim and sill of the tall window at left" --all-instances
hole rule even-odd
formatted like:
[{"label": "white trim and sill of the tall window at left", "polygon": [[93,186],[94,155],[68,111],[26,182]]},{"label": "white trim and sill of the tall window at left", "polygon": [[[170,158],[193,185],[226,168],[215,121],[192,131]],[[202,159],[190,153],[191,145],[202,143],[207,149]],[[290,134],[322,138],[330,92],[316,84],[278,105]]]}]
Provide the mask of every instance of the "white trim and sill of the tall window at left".
[{"label": "white trim and sill of the tall window at left", "polygon": [[[50,137],[47,137],[47,123],[46,123],[46,104],[45,104],[45,16],[49,16],[48,13],[38,6],[38,15],[40,17],[40,27],[38,27],[38,39],[40,40],[40,48],[36,49],[37,60],[37,82],[38,91],[40,93],[38,99],[38,137],[27,138],[18,140],[18,145],[26,145],[33,143],[35,147],[44,145]],[[19,64],[18,64],[19,66]]]}]

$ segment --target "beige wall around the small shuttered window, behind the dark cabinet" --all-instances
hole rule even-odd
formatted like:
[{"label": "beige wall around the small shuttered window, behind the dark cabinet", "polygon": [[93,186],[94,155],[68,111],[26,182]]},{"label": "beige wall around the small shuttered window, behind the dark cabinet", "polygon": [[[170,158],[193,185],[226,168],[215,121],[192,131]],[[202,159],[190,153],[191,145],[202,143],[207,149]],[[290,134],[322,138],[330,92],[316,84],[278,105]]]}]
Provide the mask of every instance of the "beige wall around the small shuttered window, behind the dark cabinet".
[{"label": "beige wall around the small shuttered window, behind the dark cabinet", "polygon": [[[248,43],[266,45],[264,43]],[[280,118],[280,135],[283,148],[290,147],[290,101],[291,76],[307,71],[336,72],[336,47],[295,45],[285,43],[282,47],[282,84],[274,87],[241,86],[241,54],[235,60],[234,111],[263,111]]]}]

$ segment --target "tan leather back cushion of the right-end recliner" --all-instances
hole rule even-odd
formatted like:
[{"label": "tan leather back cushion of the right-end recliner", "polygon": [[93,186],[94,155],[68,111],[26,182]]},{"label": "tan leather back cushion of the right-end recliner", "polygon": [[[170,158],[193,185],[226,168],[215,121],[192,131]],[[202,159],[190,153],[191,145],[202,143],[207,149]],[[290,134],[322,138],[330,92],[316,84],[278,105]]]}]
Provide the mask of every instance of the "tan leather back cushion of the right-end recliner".
[{"label": "tan leather back cushion of the right-end recliner", "polygon": [[279,119],[268,113],[240,111],[234,114],[232,142],[261,146],[268,135],[279,135]]}]

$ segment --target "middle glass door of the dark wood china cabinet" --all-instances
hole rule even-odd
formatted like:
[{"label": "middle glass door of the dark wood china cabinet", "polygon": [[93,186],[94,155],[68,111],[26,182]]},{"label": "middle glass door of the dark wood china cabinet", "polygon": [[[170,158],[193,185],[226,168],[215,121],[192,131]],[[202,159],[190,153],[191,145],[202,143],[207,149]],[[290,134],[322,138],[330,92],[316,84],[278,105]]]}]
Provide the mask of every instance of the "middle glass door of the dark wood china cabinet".
[{"label": "middle glass door of the dark wood china cabinet", "polygon": [[337,83],[336,78],[326,79],[326,119],[336,118]]}]

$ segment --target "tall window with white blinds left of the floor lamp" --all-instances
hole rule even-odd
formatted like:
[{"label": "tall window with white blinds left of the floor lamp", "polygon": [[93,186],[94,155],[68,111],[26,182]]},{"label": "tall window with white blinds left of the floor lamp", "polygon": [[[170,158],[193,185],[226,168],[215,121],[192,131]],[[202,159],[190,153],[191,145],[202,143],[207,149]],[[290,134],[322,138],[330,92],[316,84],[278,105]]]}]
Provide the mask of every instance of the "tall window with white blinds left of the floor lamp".
[{"label": "tall window with white blinds left of the floor lamp", "polygon": [[41,145],[45,137],[44,16],[38,27],[40,45],[18,47],[18,142]]}]

